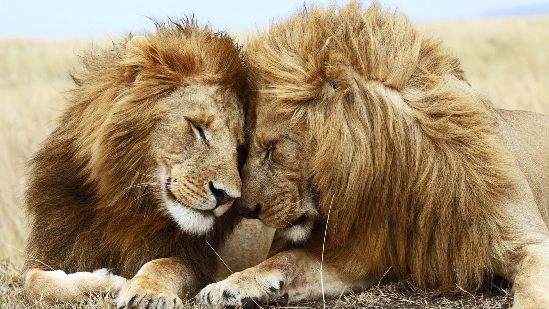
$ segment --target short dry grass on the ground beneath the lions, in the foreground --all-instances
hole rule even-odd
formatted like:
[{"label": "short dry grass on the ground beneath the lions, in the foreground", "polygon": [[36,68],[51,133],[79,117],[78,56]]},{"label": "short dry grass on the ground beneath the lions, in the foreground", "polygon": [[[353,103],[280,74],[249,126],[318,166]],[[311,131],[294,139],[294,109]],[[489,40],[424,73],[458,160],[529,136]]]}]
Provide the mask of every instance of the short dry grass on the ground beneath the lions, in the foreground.
[{"label": "short dry grass on the ground beneath the lions, in the foreground", "polygon": [[[0,261],[0,309],[29,309],[23,295],[23,278],[17,268],[8,260]],[[373,286],[360,294],[343,295],[339,299],[327,300],[326,308],[510,308],[513,302],[508,289],[492,287],[475,295],[435,296],[428,291],[414,288],[412,282],[395,282]],[[31,304],[32,305],[32,304]],[[302,302],[300,304],[261,304],[264,309],[311,308],[321,309],[322,301]],[[52,309],[115,309],[111,299],[90,297],[78,305],[57,305]],[[189,300],[185,309],[198,309],[199,306]]]}]

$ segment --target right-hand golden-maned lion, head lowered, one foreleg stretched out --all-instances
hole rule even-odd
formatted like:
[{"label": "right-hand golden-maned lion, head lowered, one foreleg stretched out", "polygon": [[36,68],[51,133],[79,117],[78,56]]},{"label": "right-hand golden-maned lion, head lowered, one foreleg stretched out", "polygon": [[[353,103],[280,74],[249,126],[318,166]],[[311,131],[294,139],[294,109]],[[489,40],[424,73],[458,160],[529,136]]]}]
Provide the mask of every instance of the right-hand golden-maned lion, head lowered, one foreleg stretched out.
[{"label": "right-hand golden-maned lion, head lowered, one foreleg stretched out", "polygon": [[239,212],[292,244],[201,304],[338,297],[382,278],[457,293],[501,275],[513,308],[549,308],[549,117],[494,108],[439,38],[377,3],[311,7],[246,54]]}]

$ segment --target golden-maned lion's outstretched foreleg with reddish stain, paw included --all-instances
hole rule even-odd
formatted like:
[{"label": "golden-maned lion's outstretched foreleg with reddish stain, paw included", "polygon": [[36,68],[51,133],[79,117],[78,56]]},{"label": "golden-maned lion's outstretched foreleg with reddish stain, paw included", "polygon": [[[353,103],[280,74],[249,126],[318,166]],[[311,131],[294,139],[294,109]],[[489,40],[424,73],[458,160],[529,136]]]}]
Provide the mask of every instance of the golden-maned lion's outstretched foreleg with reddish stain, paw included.
[{"label": "golden-maned lion's outstretched foreleg with reddish stain, paw included", "polygon": [[[322,281],[327,298],[369,285],[367,280],[345,280],[327,264],[323,265]],[[299,249],[278,253],[255,267],[234,273],[206,286],[196,296],[200,304],[208,307],[253,307],[274,300],[298,302],[321,298],[320,265],[311,253]]]}]

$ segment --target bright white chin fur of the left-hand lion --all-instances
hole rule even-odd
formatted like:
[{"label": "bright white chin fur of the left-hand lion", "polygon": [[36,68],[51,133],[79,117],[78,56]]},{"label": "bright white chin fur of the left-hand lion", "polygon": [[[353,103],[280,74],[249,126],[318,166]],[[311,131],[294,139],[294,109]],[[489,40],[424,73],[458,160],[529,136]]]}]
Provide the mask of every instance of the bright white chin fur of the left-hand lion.
[{"label": "bright white chin fur of the left-hand lion", "polygon": [[178,202],[166,202],[166,208],[179,227],[187,233],[203,235],[214,227],[214,216],[208,216],[199,210]]}]

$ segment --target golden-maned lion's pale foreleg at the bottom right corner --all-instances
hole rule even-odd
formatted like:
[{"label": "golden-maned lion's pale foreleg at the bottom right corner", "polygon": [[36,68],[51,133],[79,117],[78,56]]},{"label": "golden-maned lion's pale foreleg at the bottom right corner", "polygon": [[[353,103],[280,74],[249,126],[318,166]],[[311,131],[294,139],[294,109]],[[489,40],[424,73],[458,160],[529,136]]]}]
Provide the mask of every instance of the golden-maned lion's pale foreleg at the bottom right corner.
[{"label": "golden-maned lion's pale foreleg at the bottom right corner", "polygon": [[513,309],[549,308],[549,239],[526,245],[517,263]]}]

